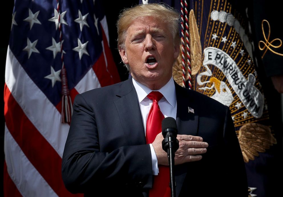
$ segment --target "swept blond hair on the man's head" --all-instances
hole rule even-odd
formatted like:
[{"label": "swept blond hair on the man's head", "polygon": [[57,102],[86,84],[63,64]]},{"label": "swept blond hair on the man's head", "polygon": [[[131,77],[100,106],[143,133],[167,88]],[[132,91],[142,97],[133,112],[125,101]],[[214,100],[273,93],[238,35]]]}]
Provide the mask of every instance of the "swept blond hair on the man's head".
[{"label": "swept blond hair on the man's head", "polygon": [[174,43],[180,44],[179,12],[166,4],[150,3],[126,8],[119,15],[119,19],[116,24],[118,32],[118,49],[125,49],[126,32],[130,24],[137,18],[145,16],[153,16],[154,18],[159,19],[159,22],[167,23],[169,30],[172,32]]}]

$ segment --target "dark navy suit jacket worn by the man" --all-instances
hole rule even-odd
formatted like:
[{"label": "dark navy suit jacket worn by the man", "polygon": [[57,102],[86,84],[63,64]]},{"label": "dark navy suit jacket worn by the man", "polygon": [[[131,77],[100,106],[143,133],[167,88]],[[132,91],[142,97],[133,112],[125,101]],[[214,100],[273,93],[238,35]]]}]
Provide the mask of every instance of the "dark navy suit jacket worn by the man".
[{"label": "dark navy suit jacket worn by the man", "polygon": [[[177,196],[247,196],[229,107],[175,86],[178,134],[201,136],[209,144],[201,161],[175,166]],[[76,96],[62,177],[70,192],[85,196],[147,196],[151,152],[132,80]]]}]

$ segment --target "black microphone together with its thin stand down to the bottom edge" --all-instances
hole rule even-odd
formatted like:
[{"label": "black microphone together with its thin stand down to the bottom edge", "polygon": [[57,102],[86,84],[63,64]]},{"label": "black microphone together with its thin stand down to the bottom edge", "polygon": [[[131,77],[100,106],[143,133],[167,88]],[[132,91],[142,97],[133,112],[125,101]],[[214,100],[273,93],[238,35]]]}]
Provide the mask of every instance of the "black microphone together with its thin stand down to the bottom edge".
[{"label": "black microphone together with its thin stand down to the bottom edge", "polygon": [[169,173],[170,173],[170,188],[171,197],[176,196],[176,182],[174,176],[174,165],[175,165],[175,152],[179,148],[179,141],[177,139],[177,124],[174,118],[167,117],[162,120],[161,123],[162,135],[162,149],[167,152]]}]

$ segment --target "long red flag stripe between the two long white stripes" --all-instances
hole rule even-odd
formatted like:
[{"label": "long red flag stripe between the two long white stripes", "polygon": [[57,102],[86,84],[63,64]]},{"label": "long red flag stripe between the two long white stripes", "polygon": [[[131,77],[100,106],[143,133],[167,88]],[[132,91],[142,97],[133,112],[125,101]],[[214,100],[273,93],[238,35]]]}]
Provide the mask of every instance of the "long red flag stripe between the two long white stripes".
[{"label": "long red flag stripe between the two long white stripes", "polygon": [[62,181],[61,157],[27,118],[6,84],[4,102],[7,128],[23,153],[58,196],[71,196]]}]

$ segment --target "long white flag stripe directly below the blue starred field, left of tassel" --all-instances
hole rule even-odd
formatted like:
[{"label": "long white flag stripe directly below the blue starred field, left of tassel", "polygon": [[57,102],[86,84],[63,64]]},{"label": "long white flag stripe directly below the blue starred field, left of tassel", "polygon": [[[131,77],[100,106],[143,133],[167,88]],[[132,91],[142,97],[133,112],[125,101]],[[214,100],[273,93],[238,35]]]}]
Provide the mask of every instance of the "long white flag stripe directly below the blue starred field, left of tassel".
[{"label": "long white flag stripe directly below the blue starred field, left of tassel", "polygon": [[61,114],[27,75],[9,46],[5,82],[31,123],[62,157],[69,125],[61,123]]}]

